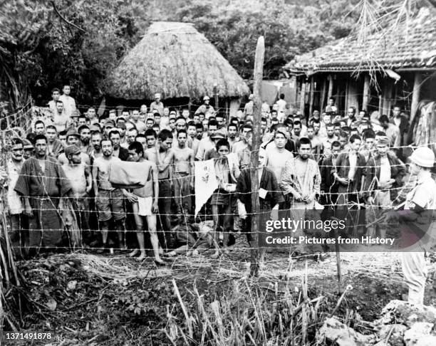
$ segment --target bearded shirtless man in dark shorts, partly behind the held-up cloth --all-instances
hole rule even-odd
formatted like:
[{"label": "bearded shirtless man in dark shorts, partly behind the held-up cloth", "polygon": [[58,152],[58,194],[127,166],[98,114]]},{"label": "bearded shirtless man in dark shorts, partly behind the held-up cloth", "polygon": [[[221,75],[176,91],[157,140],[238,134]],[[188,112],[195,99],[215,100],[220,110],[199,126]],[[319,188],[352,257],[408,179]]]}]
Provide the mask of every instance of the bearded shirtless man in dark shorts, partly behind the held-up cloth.
[{"label": "bearded shirtless man in dark shorts, partly behind the held-up cloth", "polygon": [[93,164],[93,186],[95,193],[95,205],[98,211],[98,221],[103,235],[104,252],[108,249],[108,231],[109,221],[115,221],[115,229],[118,231],[118,241],[120,248],[125,248],[123,244],[123,223],[125,211],[123,208],[123,191],[114,189],[109,182],[109,165],[110,162],[120,161],[119,157],[113,157],[113,147],[110,140],[102,140],[100,147],[103,157],[97,157]]}]

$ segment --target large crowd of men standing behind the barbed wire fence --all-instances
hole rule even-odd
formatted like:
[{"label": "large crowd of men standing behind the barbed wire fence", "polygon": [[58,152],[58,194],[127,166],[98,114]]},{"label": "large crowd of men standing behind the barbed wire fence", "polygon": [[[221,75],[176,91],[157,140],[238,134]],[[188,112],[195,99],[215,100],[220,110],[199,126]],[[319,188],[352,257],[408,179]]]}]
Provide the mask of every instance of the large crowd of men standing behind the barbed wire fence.
[{"label": "large crowd of men standing behind the barbed wire fence", "polygon": [[[31,133],[11,140],[6,184],[17,249],[62,248],[66,236],[71,245],[68,229],[78,229],[76,246],[83,241],[85,248],[111,251],[127,245],[141,261],[149,243],[162,264],[163,250],[166,256],[207,248],[214,248],[212,257],[225,254],[233,231],[246,233],[251,243],[252,95],[234,117],[214,110],[207,96],[192,112],[165,107],[160,94],[150,107],[97,115],[92,107],[81,114],[70,91],[69,85],[62,94],[53,89],[51,116],[36,115]],[[409,120],[400,106],[391,115],[350,107],[341,116],[331,98],[306,117],[290,111],[280,95],[272,109],[261,105],[260,124],[253,169],[263,191],[261,211],[320,204],[327,212],[377,211],[404,201]],[[205,226],[194,218],[195,194],[207,193],[194,191],[194,165],[210,159],[218,188],[200,213],[213,221]],[[110,164],[120,161],[148,163],[147,184],[113,187]],[[129,242],[126,231],[136,238]],[[363,231],[383,236],[385,229],[373,224]]]}]

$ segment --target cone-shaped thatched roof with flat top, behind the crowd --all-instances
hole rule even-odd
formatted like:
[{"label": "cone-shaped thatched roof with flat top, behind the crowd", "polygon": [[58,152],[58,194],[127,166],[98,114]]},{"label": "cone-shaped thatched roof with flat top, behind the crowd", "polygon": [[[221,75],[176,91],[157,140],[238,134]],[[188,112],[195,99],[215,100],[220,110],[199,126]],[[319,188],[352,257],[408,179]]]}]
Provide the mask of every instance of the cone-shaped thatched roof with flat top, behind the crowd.
[{"label": "cone-shaped thatched roof with flat top, behind the crowd", "polygon": [[155,22],[105,81],[105,93],[127,100],[249,94],[244,80],[190,23]]}]

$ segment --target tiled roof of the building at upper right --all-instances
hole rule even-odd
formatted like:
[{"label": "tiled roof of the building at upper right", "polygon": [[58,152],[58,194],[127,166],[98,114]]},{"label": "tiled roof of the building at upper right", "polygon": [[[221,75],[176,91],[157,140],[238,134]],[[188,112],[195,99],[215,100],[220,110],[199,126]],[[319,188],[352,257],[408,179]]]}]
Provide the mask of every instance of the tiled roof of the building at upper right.
[{"label": "tiled roof of the building at upper right", "polygon": [[354,71],[369,69],[374,61],[378,68],[435,69],[436,11],[422,8],[409,25],[395,33],[384,30],[360,43],[355,35],[333,41],[285,66],[291,73]]}]

